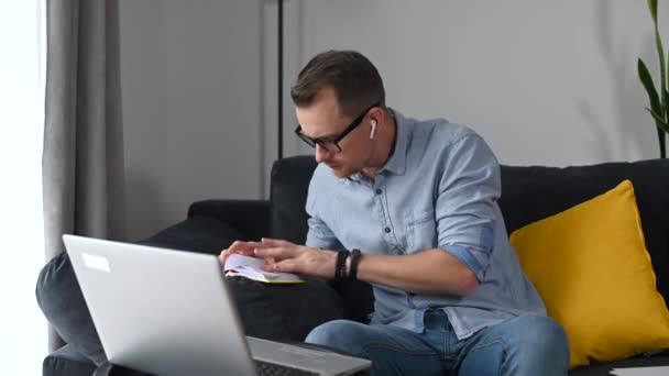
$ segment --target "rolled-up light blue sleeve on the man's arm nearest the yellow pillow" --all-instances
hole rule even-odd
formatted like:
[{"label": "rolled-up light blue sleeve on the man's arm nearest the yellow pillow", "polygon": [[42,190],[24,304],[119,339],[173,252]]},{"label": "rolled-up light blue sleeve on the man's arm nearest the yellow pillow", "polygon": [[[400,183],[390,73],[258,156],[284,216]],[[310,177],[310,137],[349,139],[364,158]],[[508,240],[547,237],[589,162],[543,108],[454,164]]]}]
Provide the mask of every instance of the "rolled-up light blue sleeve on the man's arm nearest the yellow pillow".
[{"label": "rolled-up light blue sleeve on the man's arm nearest the yellow pillow", "polygon": [[438,244],[484,279],[494,247],[500,165],[481,136],[456,141],[440,163],[436,221]]}]

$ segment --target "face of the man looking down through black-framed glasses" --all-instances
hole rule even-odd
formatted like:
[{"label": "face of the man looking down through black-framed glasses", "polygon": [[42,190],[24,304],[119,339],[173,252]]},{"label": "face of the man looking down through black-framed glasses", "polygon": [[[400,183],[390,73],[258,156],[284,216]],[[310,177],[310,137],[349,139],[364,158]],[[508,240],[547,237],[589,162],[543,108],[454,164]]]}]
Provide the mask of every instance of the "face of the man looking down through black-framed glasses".
[{"label": "face of the man looking down through black-framed glasses", "polygon": [[[311,139],[334,139],[353,120],[341,112],[334,90],[329,87],[321,89],[310,106],[297,107],[295,114],[301,133]],[[340,178],[359,173],[371,157],[369,132],[369,119],[365,115],[358,128],[339,141],[341,152],[336,147],[327,150],[317,144],[316,162],[328,165]]]}]

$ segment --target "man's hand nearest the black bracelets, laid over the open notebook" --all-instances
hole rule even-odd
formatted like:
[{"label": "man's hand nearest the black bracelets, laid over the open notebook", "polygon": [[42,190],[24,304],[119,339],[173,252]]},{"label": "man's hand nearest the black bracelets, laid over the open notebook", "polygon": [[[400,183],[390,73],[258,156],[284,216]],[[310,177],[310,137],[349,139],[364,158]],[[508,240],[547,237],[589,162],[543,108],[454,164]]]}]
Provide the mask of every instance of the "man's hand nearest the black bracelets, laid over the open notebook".
[{"label": "man's hand nearest the black bracelets, laid over the open notebook", "polygon": [[263,258],[267,272],[285,272],[318,278],[333,278],[337,253],[283,240],[263,239],[254,248],[255,257]]}]

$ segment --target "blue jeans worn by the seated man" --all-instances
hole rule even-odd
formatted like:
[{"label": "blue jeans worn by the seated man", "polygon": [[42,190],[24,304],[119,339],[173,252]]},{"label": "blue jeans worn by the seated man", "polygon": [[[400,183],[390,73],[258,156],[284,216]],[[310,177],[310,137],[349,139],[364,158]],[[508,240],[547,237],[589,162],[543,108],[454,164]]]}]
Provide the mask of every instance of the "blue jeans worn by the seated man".
[{"label": "blue jeans worn by the seated man", "polygon": [[517,317],[458,340],[441,310],[425,313],[425,332],[336,320],[306,342],[372,361],[372,375],[567,375],[569,344],[562,327],[541,316]]}]

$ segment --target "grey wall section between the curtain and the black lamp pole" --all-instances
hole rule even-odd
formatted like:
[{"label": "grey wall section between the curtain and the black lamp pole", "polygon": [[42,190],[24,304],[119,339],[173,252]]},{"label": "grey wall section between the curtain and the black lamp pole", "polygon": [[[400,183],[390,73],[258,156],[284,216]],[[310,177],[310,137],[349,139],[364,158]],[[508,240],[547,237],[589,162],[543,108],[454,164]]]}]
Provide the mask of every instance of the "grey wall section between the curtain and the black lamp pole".
[{"label": "grey wall section between the curtain and the black lamp pole", "polygon": [[121,1],[128,236],[263,185],[261,1]]}]

